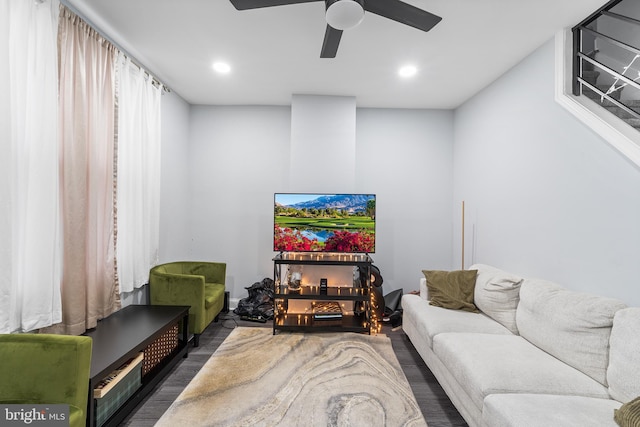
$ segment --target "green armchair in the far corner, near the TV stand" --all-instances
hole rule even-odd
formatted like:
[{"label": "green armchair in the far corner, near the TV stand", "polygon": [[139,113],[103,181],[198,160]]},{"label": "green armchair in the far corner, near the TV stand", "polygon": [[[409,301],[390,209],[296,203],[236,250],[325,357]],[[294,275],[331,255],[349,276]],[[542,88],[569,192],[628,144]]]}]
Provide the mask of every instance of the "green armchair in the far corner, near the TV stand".
[{"label": "green armchair in the far corner, near the TV stand", "polygon": [[218,320],[224,307],[227,264],[181,261],[160,264],[149,272],[152,305],[188,305],[189,332],[197,347],[200,334]]}]

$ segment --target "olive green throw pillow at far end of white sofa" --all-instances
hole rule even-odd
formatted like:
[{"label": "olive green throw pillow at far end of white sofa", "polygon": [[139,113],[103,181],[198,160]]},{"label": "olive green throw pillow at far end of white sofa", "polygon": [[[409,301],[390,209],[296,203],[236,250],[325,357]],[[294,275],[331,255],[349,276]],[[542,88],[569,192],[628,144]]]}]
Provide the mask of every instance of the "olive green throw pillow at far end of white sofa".
[{"label": "olive green throw pillow at far end of white sofa", "polygon": [[478,270],[422,270],[427,278],[429,304],[436,307],[477,312],[473,303]]}]

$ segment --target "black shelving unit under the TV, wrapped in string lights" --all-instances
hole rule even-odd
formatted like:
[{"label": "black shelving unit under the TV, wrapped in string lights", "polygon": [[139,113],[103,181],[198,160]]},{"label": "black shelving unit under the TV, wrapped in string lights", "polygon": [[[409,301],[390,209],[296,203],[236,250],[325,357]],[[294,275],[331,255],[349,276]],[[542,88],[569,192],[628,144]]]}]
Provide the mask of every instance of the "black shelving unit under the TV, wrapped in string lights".
[{"label": "black shelving unit under the TV, wrapped in string lights", "polygon": [[[281,252],[273,258],[275,282],[273,333],[276,331],[299,332],[358,332],[371,333],[371,264],[368,254],[298,253]],[[283,266],[353,266],[365,272],[360,282],[351,286],[329,286],[322,292],[320,284],[307,284],[291,290],[282,276]],[[289,301],[351,301],[359,309],[343,313],[339,318],[317,319],[311,312],[289,311]]]}]

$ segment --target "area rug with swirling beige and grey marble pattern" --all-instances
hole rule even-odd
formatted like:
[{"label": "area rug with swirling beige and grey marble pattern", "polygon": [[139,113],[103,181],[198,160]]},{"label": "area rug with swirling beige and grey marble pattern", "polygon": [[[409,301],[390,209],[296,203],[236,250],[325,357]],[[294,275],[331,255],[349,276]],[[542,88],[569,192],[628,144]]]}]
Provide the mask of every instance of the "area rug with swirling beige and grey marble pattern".
[{"label": "area rug with swirling beige and grey marble pattern", "polygon": [[383,335],[234,329],[156,426],[426,426]]}]

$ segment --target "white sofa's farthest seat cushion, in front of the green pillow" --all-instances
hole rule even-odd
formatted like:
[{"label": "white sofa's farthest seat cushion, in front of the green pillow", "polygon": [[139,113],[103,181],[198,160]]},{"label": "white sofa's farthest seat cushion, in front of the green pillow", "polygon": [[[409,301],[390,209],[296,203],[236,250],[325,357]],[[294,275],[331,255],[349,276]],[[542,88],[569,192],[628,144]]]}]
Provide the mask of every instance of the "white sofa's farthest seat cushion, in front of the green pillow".
[{"label": "white sofa's farthest seat cushion, in front of the green pillow", "polygon": [[416,330],[430,348],[433,348],[433,337],[443,332],[511,335],[507,328],[482,313],[435,307],[418,295],[404,295],[402,309],[403,317],[414,320]]}]

